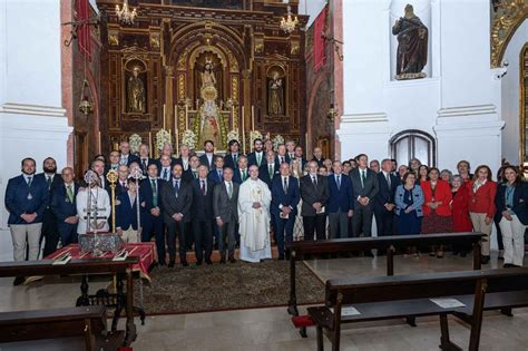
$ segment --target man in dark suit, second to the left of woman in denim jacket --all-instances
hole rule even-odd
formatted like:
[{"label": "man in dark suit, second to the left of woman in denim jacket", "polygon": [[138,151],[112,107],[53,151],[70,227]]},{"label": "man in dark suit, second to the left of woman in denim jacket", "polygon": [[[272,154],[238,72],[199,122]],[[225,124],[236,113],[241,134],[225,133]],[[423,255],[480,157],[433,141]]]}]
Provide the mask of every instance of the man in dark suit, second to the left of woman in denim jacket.
[{"label": "man in dark suit, second to the left of woman in denim jacket", "polygon": [[[354,236],[372,236],[372,216],[374,214],[374,198],[380,185],[374,170],[368,168],[369,158],[365,154],[358,155],[358,168],[351,172],[354,191],[354,216],[352,232]],[[366,253],[372,255],[372,253]]]}]

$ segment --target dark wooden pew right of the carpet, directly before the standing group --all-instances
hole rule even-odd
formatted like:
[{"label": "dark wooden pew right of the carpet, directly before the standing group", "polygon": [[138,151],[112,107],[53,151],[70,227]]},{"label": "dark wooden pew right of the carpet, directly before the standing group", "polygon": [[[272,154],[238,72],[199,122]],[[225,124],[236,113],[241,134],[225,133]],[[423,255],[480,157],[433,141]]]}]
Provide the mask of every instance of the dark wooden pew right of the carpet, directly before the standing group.
[{"label": "dark wooden pew right of the carpet, directly before the standing group", "polygon": [[[290,301],[289,313],[299,315],[295,286],[295,262],[302,261],[304,255],[338,254],[366,250],[387,251],[387,275],[394,275],[394,253],[408,246],[429,250],[436,245],[467,245],[473,247],[473,270],[480,270],[480,240],[481,233],[446,233],[428,235],[393,235],[379,237],[334,238],[325,241],[299,241],[286,244],[290,251]],[[305,332],[301,334],[305,337]]]}]

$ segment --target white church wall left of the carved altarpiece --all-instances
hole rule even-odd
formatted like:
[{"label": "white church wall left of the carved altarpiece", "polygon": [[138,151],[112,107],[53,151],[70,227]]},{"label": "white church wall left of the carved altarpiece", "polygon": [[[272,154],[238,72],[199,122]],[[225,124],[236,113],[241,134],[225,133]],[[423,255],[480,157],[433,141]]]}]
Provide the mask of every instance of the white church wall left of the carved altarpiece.
[{"label": "white church wall left of the carved altarpiece", "polygon": [[0,1],[0,261],[11,261],[7,183],[25,157],[37,172],[48,156],[66,166],[71,128],[61,107],[60,2]]}]

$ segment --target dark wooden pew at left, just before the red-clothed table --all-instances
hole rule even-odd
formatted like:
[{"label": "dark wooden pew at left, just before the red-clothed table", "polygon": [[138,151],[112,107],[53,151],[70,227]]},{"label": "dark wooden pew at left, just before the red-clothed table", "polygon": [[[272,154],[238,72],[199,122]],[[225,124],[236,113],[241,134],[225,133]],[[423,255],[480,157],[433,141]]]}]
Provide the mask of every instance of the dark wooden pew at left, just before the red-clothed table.
[{"label": "dark wooden pew at left, just before the red-clothed table", "polygon": [[[58,265],[53,265],[51,260],[0,262],[0,277],[81,274],[81,295],[77,300],[77,306],[87,306],[90,304],[87,276],[91,274],[116,274],[117,294],[119,298],[117,299],[111,330],[117,330],[117,321],[120,316],[121,309],[125,309],[127,322],[124,344],[130,345],[137,337],[136,324],[134,323],[134,277],[130,266],[137,263],[137,261],[138,257],[129,256],[125,261],[82,259],[71,260],[67,264]],[[126,292],[124,292],[124,280],[126,281]]]}]

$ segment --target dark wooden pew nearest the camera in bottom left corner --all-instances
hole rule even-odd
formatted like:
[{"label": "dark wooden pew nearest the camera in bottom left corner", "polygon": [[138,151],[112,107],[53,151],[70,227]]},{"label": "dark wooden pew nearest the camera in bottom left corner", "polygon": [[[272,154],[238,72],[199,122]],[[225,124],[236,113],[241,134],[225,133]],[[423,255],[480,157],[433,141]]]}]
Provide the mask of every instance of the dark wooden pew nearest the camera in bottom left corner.
[{"label": "dark wooden pew nearest the camera in bottom left corner", "polygon": [[104,305],[0,313],[0,342],[82,337],[87,351],[123,345],[125,332],[107,331]]}]

